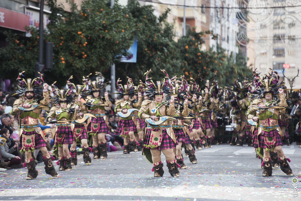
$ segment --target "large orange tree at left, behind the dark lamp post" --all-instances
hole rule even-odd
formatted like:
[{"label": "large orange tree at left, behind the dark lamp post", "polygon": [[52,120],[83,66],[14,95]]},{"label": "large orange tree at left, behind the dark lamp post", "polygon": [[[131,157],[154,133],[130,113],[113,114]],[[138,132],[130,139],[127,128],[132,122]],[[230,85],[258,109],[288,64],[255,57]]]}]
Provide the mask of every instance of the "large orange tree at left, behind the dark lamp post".
[{"label": "large orange tree at left, behind the dark lamp post", "polygon": [[[126,55],[125,50],[132,45],[134,20],[127,7],[115,3],[110,8],[109,0],[85,0],[80,9],[70,3],[71,12],[67,13],[56,0],[47,0],[47,4],[52,13],[44,41],[54,45],[54,67],[45,75],[48,82],[57,80],[64,84],[70,75],[80,82],[82,75],[104,72],[119,59],[116,55]],[[8,77],[15,78],[22,70],[34,73],[38,31],[28,31],[32,32],[29,40],[15,42],[16,36],[10,36],[9,46],[0,50],[0,65]]]}]

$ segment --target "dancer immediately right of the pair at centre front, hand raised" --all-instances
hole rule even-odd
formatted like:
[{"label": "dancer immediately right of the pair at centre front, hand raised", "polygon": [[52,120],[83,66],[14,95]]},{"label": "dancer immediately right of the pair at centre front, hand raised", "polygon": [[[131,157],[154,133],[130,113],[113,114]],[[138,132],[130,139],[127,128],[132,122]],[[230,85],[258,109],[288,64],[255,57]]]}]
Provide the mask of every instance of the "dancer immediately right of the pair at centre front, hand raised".
[{"label": "dancer immediately right of the pair at centre front, hand raised", "polygon": [[[191,97],[191,104],[194,106],[193,110],[191,111],[192,113],[196,114],[195,119],[191,120],[190,123],[190,128],[192,130],[192,135],[193,135],[193,140],[195,143],[195,147],[197,149],[202,149],[202,146],[204,145],[205,148],[208,147],[206,137],[202,131],[202,125],[201,125],[201,118],[200,118],[200,109],[203,107],[203,98],[200,92],[200,87],[199,85],[195,82],[193,78],[190,78],[190,94],[192,95]],[[197,97],[199,96],[199,97]],[[190,140],[192,140],[190,138]]]}]

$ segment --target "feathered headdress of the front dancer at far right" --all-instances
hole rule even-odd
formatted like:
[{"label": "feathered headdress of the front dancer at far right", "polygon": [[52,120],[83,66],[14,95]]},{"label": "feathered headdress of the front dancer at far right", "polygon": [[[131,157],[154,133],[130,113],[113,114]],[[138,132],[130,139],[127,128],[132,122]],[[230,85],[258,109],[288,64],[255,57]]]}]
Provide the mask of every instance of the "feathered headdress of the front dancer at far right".
[{"label": "feathered headdress of the front dancer at far right", "polygon": [[[279,83],[279,75],[276,71],[256,77],[256,88],[251,98],[262,98],[266,92],[272,93],[273,99],[278,100],[278,89],[283,85]],[[255,79],[254,79],[255,80]]]}]

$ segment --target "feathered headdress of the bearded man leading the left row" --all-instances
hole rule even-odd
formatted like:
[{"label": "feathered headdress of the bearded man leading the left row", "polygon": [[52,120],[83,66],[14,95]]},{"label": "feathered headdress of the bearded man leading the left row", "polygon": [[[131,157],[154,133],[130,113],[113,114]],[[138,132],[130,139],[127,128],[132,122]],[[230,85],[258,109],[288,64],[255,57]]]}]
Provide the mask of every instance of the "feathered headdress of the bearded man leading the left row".
[{"label": "feathered headdress of the bearded man leading the left row", "polygon": [[43,75],[41,73],[39,73],[40,77],[37,77],[35,79],[23,79],[21,78],[21,76],[24,77],[23,73],[25,71],[23,71],[22,73],[19,73],[19,76],[17,78],[17,82],[18,82],[18,87],[16,90],[17,95],[22,96],[26,91],[33,91],[33,93],[35,95],[39,95],[42,96],[43,95],[43,85],[44,85],[44,80],[43,80]]}]

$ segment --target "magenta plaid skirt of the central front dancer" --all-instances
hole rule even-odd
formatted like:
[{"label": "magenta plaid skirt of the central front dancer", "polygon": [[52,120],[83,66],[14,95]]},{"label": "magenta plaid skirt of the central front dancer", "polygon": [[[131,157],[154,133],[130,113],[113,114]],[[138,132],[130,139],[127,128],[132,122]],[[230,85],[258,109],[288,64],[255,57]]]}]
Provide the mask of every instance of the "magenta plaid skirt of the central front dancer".
[{"label": "magenta plaid skirt of the central front dancer", "polygon": [[[144,144],[149,144],[150,140],[151,140],[151,131],[159,131],[159,129],[150,129],[147,128],[146,129],[146,133],[144,136]],[[161,145],[158,147],[155,147],[154,149],[158,149],[158,150],[164,150],[164,149],[175,149],[176,144],[173,142],[172,138],[170,138],[167,135],[166,129],[162,129],[162,141],[161,141]],[[151,149],[149,147],[145,147],[146,149]]]}]

